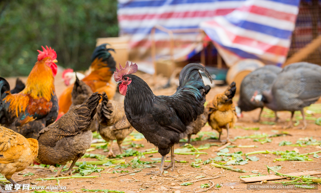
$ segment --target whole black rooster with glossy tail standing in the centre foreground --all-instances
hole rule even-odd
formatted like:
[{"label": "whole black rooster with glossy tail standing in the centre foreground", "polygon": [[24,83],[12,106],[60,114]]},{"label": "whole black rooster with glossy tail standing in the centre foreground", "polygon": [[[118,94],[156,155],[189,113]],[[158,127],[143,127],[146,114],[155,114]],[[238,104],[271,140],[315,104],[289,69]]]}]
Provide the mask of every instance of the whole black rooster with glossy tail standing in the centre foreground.
[{"label": "whole black rooster with glossy tail standing in the centre foreground", "polygon": [[116,69],[114,79],[120,94],[125,96],[125,113],[130,124],[158,147],[162,155],[160,174],[164,171],[165,156],[171,151],[170,165],[174,170],[174,144],[192,132],[191,124],[204,112],[206,88],[199,70],[212,80],[200,64],[190,63],[179,73],[179,87],[171,96],[155,96],[141,78],[133,75],[137,65],[128,62]]}]

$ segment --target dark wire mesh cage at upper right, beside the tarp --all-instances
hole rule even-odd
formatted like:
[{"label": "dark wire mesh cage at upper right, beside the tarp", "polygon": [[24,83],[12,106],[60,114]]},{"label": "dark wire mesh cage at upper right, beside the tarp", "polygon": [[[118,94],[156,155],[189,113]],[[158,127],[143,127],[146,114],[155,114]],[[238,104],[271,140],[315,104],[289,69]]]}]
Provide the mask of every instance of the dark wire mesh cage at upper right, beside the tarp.
[{"label": "dark wire mesh cage at upper right, beside the tarp", "polygon": [[[321,0],[301,0],[288,57],[291,57],[321,35],[320,12]],[[311,52],[304,61],[321,65],[321,45]]]}]

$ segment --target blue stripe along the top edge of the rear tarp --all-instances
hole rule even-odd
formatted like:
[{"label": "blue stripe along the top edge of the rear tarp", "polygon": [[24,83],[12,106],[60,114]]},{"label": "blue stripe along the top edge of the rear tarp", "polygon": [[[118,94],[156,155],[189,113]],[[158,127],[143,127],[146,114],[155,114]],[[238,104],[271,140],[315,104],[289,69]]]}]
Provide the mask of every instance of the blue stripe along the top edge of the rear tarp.
[{"label": "blue stripe along the top edge of the rear tarp", "polygon": [[[178,5],[178,4],[193,4],[193,3],[214,3],[221,1],[235,1],[235,0],[152,0],[152,1],[130,1],[128,3],[118,4],[118,8],[130,7],[160,7],[163,5]],[[245,0],[239,0],[245,1]]]}]

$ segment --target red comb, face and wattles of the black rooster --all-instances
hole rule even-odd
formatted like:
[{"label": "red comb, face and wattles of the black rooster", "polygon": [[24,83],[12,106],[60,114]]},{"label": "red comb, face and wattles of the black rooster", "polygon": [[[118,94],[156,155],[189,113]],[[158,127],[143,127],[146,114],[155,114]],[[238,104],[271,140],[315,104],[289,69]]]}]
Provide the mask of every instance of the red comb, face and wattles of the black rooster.
[{"label": "red comb, face and wattles of the black rooster", "polygon": [[132,79],[129,78],[128,74],[132,74],[137,72],[137,64],[136,63],[131,63],[129,65],[129,63],[126,63],[125,68],[123,68],[120,64],[119,64],[119,69],[116,67],[116,72],[114,73],[114,79],[117,82],[117,85],[119,85],[119,93],[126,96],[126,92],[127,92],[127,86],[132,82]]}]

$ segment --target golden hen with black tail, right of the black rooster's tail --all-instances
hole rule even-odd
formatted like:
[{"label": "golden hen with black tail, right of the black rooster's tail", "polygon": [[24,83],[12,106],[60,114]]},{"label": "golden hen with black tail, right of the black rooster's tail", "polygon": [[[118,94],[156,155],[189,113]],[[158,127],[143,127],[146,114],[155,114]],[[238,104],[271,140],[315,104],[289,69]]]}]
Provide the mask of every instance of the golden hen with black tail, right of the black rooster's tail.
[{"label": "golden hen with black tail, right of the black rooster's tail", "polygon": [[212,101],[208,103],[208,124],[212,129],[220,133],[221,138],[222,129],[227,129],[227,140],[229,140],[229,129],[235,126],[237,116],[235,106],[233,105],[232,98],[235,95],[236,86],[232,82],[224,93],[215,95]]}]

